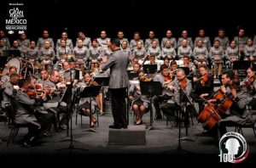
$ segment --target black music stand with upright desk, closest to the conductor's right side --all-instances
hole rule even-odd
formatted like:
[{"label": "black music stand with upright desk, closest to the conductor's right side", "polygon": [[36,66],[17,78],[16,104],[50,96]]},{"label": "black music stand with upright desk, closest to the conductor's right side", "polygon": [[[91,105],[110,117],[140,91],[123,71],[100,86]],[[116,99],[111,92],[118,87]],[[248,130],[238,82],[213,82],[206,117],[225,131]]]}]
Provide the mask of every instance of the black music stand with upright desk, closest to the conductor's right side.
[{"label": "black music stand with upright desk, closest to the conductor's right side", "polygon": [[153,123],[153,109],[152,109],[152,97],[158,96],[162,94],[162,86],[160,84],[160,81],[141,81],[140,82],[141,92],[143,95],[147,95],[149,97],[150,101],[150,126],[146,129],[146,131],[149,131],[153,129],[152,123]]}]

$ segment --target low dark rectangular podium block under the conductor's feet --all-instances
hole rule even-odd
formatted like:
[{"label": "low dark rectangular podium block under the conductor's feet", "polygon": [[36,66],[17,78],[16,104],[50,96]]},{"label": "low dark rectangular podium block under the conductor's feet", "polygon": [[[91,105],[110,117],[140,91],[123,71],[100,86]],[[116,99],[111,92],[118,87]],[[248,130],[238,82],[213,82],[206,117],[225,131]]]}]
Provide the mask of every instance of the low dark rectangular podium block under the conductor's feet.
[{"label": "low dark rectangular podium block under the conductor's feet", "polygon": [[108,132],[110,145],[145,145],[146,126],[128,126],[127,129],[110,129]]}]

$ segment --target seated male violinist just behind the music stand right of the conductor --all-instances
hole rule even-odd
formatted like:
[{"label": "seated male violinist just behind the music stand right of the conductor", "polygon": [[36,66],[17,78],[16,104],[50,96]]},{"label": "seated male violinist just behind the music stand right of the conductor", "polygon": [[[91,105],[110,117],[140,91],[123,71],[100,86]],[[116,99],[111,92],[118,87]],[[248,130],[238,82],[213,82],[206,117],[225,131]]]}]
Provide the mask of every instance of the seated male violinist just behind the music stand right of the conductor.
[{"label": "seated male violinist just behind the music stand right of the conductor", "polygon": [[162,115],[160,112],[160,102],[172,98],[172,93],[166,90],[166,86],[172,81],[172,78],[169,75],[170,75],[169,69],[166,66],[166,64],[161,64],[160,74],[157,74],[156,76],[154,76],[154,81],[160,81],[164,89],[162,95],[153,97],[153,104],[154,104],[155,115],[156,115],[155,120],[162,119]]}]

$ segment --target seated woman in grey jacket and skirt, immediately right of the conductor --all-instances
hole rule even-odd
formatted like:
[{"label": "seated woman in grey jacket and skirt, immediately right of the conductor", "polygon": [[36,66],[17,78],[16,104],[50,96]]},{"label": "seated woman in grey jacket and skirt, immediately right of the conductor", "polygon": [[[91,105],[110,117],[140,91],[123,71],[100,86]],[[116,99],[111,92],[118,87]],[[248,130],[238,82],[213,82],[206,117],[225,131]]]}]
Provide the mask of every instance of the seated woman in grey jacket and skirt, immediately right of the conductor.
[{"label": "seated woman in grey jacket and skirt, immediately right of the conductor", "polygon": [[[138,72],[139,81],[151,81],[144,76],[143,71]],[[141,94],[139,84],[131,84],[129,88],[129,99],[131,100],[131,108],[136,115],[136,125],[143,124],[143,115],[149,111],[149,100]]]}]

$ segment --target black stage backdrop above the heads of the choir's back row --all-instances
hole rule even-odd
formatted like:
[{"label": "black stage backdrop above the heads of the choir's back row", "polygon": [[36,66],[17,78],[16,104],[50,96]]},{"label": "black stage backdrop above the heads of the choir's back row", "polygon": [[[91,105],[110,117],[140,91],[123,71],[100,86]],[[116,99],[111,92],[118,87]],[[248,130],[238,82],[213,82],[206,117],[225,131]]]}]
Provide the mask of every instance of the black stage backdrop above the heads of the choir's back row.
[{"label": "black stage backdrop above the heads of the choir's back row", "polygon": [[24,3],[27,35],[33,40],[38,40],[44,29],[49,30],[50,36],[56,40],[65,28],[73,41],[78,31],[96,38],[101,30],[106,30],[108,36],[116,36],[117,31],[122,30],[129,39],[134,31],[140,31],[145,39],[150,30],[154,30],[157,37],[162,37],[167,29],[171,29],[173,36],[178,37],[186,29],[195,39],[198,30],[204,28],[212,40],[219,28],[224,28],[230,37],[236,36],[238,26],[246,29],[247,36],[256,33],[254,7],[247,0],[240,3],[225,3],[224,0],[155,0],[154,3],[146,0],[86,0],[83,3],[81,0],[9,0],[1,2],[4,4],[0,10],[1,29],[5,28],[9,12],[6,7],[10,2]]}]

